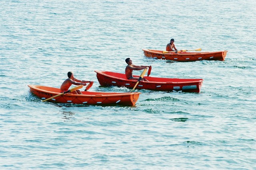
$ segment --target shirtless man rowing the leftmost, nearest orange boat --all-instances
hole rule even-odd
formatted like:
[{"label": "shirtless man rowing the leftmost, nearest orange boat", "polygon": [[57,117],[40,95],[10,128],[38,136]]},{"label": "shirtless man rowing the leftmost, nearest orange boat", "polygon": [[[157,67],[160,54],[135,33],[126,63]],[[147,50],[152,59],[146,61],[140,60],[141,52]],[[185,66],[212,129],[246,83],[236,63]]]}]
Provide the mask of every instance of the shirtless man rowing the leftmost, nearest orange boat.
[{"label": "shirtless man rowing the leftmost, nearest orange boat", "polygon": [[[74,78],[73,72],[70,71],[70,72],[68,72],[68,78],[60,86],[60,92],[62,93],[62,92],[68,91],[68,89],[70,88],[70,86],[72,84],[77,85],[77,86],[83,84],[84,86],[86,86],[86,83],[90,83],[90,82],[93,83],[93,81],[78,80],[78,79]],[[80,90],[76,90],[71,93],[72,94],[82,94],[82,92]]]}]

